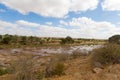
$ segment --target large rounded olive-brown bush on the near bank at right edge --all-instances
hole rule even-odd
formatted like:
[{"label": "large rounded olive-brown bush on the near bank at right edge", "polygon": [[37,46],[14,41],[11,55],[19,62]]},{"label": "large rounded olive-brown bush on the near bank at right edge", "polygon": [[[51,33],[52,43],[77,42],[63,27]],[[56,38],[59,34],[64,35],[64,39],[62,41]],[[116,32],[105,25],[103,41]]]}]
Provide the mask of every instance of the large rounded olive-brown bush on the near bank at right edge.
[{"label": "large rounded olive-brown bush on the near bank at right edge", "polygon": [[102,48],[94,50],[92,62],[99,62],[102,65],[120,63],[120,45],[107,44]]}]

